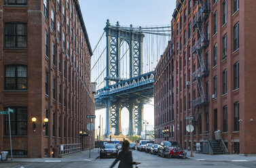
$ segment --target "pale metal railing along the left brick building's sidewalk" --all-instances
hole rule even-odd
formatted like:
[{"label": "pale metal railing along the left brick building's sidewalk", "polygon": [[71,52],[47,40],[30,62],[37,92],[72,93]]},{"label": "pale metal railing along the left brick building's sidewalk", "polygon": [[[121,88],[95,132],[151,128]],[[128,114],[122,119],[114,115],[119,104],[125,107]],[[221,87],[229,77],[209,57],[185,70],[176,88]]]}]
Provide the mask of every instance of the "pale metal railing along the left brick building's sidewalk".
[{"label": "pale metal railing along the left brick building's sidewalk", "polygon": [[81,144],[60,144],[58,156],[81,151]]}]

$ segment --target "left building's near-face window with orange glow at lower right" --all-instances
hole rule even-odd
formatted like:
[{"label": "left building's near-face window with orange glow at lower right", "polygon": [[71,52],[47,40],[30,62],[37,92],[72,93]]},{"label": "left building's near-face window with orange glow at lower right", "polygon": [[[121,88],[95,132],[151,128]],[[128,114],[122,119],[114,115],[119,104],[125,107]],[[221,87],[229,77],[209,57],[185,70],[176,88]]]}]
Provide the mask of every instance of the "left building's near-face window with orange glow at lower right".
[{"label": "left building's near-face window with orange glow at lower right", "polygon": [[27,89],[26,65],[5,65],[5,89]]}]

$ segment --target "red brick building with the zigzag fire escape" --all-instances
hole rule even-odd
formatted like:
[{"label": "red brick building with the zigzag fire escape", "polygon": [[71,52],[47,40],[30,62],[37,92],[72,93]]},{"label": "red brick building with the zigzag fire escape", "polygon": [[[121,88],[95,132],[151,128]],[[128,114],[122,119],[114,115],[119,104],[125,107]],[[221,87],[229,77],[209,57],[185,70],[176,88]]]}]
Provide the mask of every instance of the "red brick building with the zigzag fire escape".
[{"label": "red brick building with the zigzag fire escape", "polygon": [[[255,154],[256,1],[177,0],[172,38],[155,70],[155,136],[214,153]],[[221,133],[216,141],[215,131]],[[225,145],[224,145],[225,144]]]}]

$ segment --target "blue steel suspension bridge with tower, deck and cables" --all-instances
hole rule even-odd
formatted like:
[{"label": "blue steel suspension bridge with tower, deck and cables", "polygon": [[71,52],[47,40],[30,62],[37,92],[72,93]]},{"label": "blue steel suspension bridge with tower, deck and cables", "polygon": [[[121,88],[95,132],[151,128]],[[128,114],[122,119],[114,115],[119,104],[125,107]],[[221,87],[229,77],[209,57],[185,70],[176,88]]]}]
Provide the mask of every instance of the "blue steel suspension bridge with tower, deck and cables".
[{"label": "blue steel suspension bridge with tower, deck and cables", "polygon": [[106,109],[106,137],[123,135],[123,108],[129,112],[128,135],[141,135],[143,104],[153,98],[153,70],[168,40],[170,25],[120,26],[107,20],[91,58],[95,109]]}]

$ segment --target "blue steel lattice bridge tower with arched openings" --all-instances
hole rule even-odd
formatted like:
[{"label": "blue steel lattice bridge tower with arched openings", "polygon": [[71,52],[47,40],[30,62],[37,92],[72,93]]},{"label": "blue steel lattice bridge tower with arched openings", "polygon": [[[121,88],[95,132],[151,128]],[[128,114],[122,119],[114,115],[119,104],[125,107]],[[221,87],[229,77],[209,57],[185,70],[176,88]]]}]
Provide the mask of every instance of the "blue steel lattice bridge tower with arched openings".
[{"label": "blue steel lattice bridge tower with arched openings", "polygon": [[[129,27],[120,26],[119,22],[116,25],[111,25],[107,20],[107,25],[104,28],[107,37],[107,77],[105,77],[105,90],[109,90],[109,85],[124,81],[120,77],[120,47],[122,41],[126,41],[129,45],[130,58],[130,78],[138,77],[142,74],[142,46],[143,37],[140,28],[134,30],[132,25]],[[129,131],[128,135],[134,135],[134,129],[137,128],[137,135],[141,135],[143,131],[143,102],[129,100],[127,102],[115,102],[111,104],[111,98],[105,98],[106,105],[106,129],[105,135],[122,135],[121,127],[121,110],[124,106],[129,110]],[[112,133],[111,128],[115,128],[115,133]]]}]

